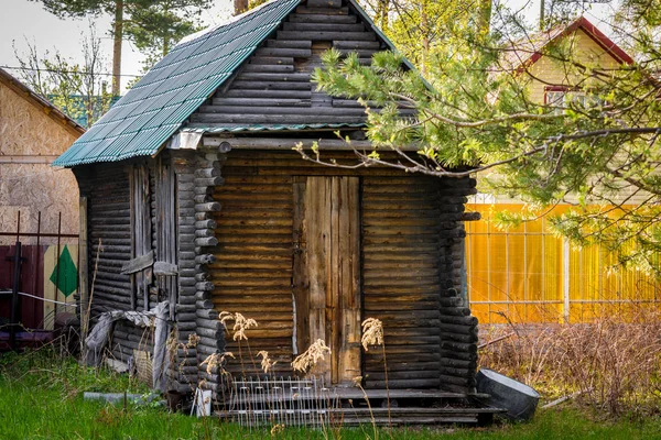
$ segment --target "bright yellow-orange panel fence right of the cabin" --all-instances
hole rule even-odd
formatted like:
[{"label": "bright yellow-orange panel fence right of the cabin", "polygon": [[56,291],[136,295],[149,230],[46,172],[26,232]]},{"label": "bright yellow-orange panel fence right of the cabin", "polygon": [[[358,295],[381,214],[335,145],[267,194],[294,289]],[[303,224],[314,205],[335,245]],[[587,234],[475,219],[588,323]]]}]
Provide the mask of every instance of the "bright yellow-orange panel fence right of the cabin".
[{"label": "bright yellow-orange panel fence right of the cabin", "polygon": [[[587,322],[661,306],[661,284],[638,271],[615,271],[615,255],[576,249],[546,230],[546,219],[500,230],[497,210],[521,205],[468,205],[483,220],[466,223],[467,290],[483,323]],[[559,208],[560,211],[562,208]]]}]

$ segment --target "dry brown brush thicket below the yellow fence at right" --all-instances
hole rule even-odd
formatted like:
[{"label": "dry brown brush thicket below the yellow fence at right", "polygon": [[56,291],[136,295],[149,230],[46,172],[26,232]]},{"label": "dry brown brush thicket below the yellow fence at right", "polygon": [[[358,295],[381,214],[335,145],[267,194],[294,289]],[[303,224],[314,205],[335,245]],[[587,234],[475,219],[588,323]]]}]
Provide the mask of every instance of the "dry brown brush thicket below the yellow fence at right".
[{"label": "dry brown brush thicket below the yellow fence at right", "polygon": [[[479,365],[524,382],[545,397],[579,393],[606,415],[644,415],[661,403],[661,312],[641,309],[590,323],[492,327]],[[483,329],[484,330],[484,329]]]}]

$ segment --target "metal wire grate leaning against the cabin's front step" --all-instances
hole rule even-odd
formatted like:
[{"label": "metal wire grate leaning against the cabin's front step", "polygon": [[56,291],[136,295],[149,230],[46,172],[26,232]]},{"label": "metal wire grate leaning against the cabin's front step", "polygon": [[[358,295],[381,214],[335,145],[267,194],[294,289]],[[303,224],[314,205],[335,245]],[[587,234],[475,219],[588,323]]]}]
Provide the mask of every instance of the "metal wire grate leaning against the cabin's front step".
[{"label": "metal wire grate leaning against the cabin's front step", "polygon": [[323,377],[257,377],[231,383],[221,417],[248,428],[264,425],[321,428],[333,421],[333,409],[337,407],[337,397],[325,386]]}]

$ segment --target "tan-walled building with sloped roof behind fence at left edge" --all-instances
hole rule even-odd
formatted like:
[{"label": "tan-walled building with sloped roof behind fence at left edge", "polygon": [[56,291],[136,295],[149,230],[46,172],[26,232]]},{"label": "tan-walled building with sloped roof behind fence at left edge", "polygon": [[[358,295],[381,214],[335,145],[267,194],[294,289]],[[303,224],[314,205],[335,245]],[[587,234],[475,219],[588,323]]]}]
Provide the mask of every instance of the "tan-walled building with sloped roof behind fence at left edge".
[{"label": "tan-walled building with sloped roof behind fence at left edge", "polygon": [[[69,169],[51,164],[84,132],[45,98],[0,69],[0,290],[12,286],[13,266],[6,256],[14,253],[20,211],[25,257],[21,292],[75,302],[75,288],[65,285],[76,285],[78,186]],[[58,230],[73,237],[58,240]],[[56,273],[51,280],[58,261],[62,276]],[[53,304],[23,297],[21,306],[25,327],[53,327]],[[9,299],[3,295],[0,320],[6,322],[9,316]]]}]

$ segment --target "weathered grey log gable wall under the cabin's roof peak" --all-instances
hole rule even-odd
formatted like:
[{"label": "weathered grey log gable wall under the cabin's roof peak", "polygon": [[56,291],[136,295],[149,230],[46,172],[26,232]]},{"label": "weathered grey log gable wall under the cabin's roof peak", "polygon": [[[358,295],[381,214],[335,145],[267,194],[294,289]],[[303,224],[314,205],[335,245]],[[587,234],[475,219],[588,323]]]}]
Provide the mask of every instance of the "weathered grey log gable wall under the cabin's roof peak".
[{"label": "weathered grey log gable wall under the cabin's roof peak", "polygon": [[322,67],[321,55],[330,47],[357,52],[365,64],[383,48],[348,8],[300,7],[191,117],[188,127],[365,122],[365,109],[356,100],[329,97],[311,82],[312,72]]}]

